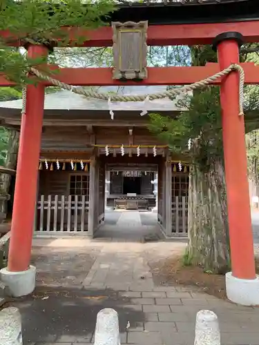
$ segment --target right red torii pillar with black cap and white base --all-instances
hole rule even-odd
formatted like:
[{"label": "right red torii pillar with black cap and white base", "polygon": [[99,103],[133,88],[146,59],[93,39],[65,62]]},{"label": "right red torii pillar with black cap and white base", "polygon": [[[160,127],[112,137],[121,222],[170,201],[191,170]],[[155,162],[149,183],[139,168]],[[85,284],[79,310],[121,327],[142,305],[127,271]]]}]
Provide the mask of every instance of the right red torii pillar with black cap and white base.
[{"label": "right red torii pillar with black cap and white base", "polygon": [[[215,37],[220,70],[239,63],[242,34],[224,32]],[[244,306],[259,305],[259,277],[253,254],[253,233],[244,116],[239,108],[239,75],[231,72],[222,78],[220,86],[224,168],[229,215],[229,239],[232,272],[226,274],[227,297]]]}]

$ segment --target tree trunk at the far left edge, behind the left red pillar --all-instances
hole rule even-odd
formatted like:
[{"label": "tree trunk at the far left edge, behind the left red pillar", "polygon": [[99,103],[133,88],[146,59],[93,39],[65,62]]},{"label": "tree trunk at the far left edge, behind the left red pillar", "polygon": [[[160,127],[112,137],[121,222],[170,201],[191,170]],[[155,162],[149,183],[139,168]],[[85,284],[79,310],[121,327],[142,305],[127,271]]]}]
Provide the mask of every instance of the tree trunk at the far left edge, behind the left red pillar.
[{"label": "tree trunk at the far left edge, behind the left red pillar", "polygon": [[[6,155],[6,168],[15,169],[17,164],[17,153],[19,146],[19,132],[16,130],[10,131],[10,137],[8,140],[8,152]],[[4,194],[9,193],[11,182],[11,175],[1,174],[1,187]],[[1,212],[7,213],[7,202],[2,203]]]}]

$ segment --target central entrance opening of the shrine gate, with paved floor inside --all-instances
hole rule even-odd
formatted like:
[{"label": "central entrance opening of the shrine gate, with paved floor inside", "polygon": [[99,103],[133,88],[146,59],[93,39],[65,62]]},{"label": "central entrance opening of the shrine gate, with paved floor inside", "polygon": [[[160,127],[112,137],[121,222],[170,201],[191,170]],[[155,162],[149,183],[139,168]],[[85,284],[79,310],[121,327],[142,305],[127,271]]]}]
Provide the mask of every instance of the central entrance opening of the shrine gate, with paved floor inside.
[{"label": "central entrance opening of the shrine gate, with paved floor inside", "polygon": [[125,148],[124,156],[117,152],[116,158],[99,156],[106,169],[105,208],[104,215],[102,208],[99,209],[101,223],[93,230],[93,237],[126,242],[157,241],[164,237],[157,216],[157,172],[162,157],[151,157],[151,154],[145,157],[143,152],[139,157],[131,152],[129,157],[128,151]]}]

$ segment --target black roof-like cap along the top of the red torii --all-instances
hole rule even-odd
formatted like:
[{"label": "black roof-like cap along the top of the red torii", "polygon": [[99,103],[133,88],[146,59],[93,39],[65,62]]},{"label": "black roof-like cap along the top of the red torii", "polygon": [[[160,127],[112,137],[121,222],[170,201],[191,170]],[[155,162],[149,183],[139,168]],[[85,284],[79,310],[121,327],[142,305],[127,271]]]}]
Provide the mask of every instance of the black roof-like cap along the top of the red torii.
[{"label": "black roof-like cap along the top of the red torii", "polygon": [[258,0],[164,0],[119,3],[108,21],[148,21],[149,25],[216,23],[259,19]]}]

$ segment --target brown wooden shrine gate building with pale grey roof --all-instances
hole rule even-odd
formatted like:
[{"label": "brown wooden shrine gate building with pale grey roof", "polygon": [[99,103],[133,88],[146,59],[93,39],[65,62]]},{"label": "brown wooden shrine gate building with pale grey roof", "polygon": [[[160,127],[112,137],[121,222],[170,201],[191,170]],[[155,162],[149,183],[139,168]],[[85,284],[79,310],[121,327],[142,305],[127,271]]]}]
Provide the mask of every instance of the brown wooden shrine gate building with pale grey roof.
[{"label": "brown wooden shrine gate building with pale grey roof", "polygon": [[[125,89],[141,94],[141,89],[155,92],[166,87]],[[180,112],[176,103],[152,101],[148,112],[176,117]],[[19,130],[21,106],[21,99],[0,102],[2,124]],[[187,235],[189,165],[171,155],[148,130],[148,114],[140,115],[143,106],[143,102],[113,103],[111,119],[107,101],[67,90],[46,95],[35,235],[95,237],[105,222],[105,206],[157,210],[165,235]]]}]

